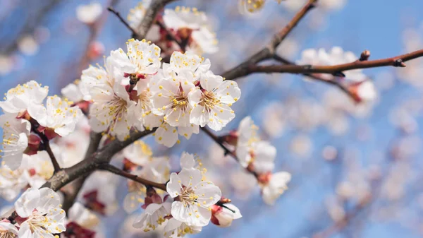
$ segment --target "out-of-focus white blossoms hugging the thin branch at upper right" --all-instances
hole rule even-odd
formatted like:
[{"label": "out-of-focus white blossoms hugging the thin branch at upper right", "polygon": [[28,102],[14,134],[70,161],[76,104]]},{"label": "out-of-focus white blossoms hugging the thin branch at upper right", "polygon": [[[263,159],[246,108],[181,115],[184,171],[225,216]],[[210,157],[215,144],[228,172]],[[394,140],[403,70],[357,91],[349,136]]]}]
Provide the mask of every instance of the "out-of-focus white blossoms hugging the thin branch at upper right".
[{"label": "out-of-focus white blossoms hugging the thin branch at upper right", "polygon": [[[358,58],[353,52],[344,52],[341,47],[332,47],[329,52],[325,49],[305,49],[301,54],[301,59],[297,64],[310,65],[334,65],[347,64],[357,61]],[[322,73],[322,78],[331,80],[333,76]],[[343,79],[343,78],[337,78]],[[362,73],[362,69],[345,71],[345,79],[348,90],[357,102],[369,102],[376,98],[374,83]]]}]

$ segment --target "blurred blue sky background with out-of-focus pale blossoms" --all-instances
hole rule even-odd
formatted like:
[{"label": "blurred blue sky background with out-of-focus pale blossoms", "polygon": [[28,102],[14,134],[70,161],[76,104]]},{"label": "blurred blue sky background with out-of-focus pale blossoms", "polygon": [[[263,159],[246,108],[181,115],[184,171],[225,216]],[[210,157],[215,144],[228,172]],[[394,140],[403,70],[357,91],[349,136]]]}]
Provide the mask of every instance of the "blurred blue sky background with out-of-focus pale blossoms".
[{"label": "blurred blue sky background with out-of-focus pale blossoms", "polygon": [[[106,7],[126,16],[137,1],[98,2],[102,16],[89,27],[75,9],[90,1],[0,0],[1,93],[35,80],[49,85],[50,95],[59,94],[88,64],[102,64],[103,54],[125,47],[130,31]],[[177,1],[167,7],[195,6],[207,13],[219,52],[204,56],[219,74],[264,47],[304,2],[268,0],[251,15],[240,14],[235,0]],[[299,61],[305,49],[338,46],[356,56],[368,49],[370,59],[381,59],[422,49],[422,8],[419,0],[321,0],[278,53]],[[379,95],[360,105],[333,85],[302,76],[254,74],[237,80],[243,95],[233,107],[236,118],[219,134],[250,115],[262,138],[277,148],[275,170],[288,171],[293,179],[274,207],[263,203],[254,177],[201,131],[171,149],[149,138],[154,154],[171,155],[175,169],[181,151],[200,155],[211,180],[243,214],[231,227],[209,225],[192,237],[422,237],[423,61],[362,73]],[[125,186],[118,191],[121,201]],[[126,217],[118,209],[104,218],[106,237],[146,236],[128,228],[132,222]]]}]

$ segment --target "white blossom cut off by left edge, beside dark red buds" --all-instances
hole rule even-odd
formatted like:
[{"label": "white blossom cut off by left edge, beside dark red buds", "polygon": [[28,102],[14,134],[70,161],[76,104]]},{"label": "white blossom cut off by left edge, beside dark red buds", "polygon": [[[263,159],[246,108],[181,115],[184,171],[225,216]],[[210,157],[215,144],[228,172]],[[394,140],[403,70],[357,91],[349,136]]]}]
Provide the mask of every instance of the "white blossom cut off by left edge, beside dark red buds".
[{"label": "white blossom cut off by left edge, beside dark red buds", "polygon": [[22,162],[23,152],[28,146],[28,136],[31,125],[25,119],[16,119],[14,114],[0,116],[0,125],[3,129],[3,162],[12,170],[18,169]]}]

